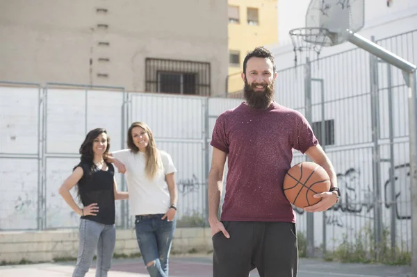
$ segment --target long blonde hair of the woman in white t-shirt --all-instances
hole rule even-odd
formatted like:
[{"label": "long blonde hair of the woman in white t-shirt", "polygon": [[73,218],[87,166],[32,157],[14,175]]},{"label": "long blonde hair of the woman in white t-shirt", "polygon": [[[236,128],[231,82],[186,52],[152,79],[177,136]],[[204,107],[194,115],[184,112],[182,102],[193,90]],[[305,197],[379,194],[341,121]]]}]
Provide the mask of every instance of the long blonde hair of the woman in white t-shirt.
[{"label": "long blonde hair of the woman in white t-shirt", "polygon": [[127,131],[127,146],[133,153],[138,153],[139,149],[133,142],[132,130],[135,127],[142,128],[149,136],[149,142],[145,149],[145,175],[150,180],[154,179],[158,170],[162,167],[161,157],[159,156],[158,149],[152,134],[151,128],[144,122],[133,122]]}]

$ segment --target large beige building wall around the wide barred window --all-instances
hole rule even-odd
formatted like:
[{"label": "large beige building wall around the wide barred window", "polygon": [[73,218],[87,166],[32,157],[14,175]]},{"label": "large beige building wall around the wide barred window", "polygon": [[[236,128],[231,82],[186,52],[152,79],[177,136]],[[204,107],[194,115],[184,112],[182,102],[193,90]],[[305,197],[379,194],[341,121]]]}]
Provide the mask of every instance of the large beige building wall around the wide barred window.
[{"label": "large beige building wall around the wide barred window", "polygon": [[0,7],[2,81],[144,91],[145,58],[166,58],[210,62],[211,94],[224,94],[225,1],[0,0]]}]

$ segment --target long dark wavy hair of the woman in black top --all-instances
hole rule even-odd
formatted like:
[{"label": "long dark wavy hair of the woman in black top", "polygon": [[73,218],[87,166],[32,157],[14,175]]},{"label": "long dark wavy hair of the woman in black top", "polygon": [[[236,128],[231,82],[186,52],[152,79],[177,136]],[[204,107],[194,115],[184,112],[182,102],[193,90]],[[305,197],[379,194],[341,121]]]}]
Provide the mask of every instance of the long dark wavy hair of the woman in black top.
[{"label": "long dark wavy hair of the woman in black top", "polygon": [[[92,144],[94,140],[101,135],[102,133],[105,133],[107,135],[107,147],[106,150],[103,153],[103,159],[106,160],[108,158],[108,150],[110,149],[110,137],[107,134],[107,130],[105,128],[95,128],[88,132],[88,134],[85,136],[85,139],[83,143],[80,146],[79,153],[81,154],[80,162],[78,165],[72,169],[73,171],[76,169],[76,167],[88,167],[90,169],[88,176],[83,176],[83,178],[89,178],[91,176],[92,171],[95,170],[95,164],[92,162],[94,158],[94,151],[92,151]],[[77,197],[81,199],[80,196],[80,187],[79,184],[77,186]]]}]

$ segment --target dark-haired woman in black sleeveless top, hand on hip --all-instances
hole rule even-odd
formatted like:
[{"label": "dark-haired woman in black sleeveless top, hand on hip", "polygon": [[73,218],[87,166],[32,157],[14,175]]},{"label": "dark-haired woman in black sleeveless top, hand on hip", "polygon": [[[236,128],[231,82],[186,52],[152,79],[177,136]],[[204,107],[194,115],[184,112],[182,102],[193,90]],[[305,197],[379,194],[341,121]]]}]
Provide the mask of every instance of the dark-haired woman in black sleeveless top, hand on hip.
[{"label": "dark-haired woman in black sleeveless top, hand on hip", "polygon": [[[128,199],[118,192],[113,165],[106,162],[110,137],[104,128],[90,131],[79,149],[80,162],[60,186],[59,194],[81,215],[79,251],[73,277],[85,276],[97,249],[96,276],[107,276],[115,249],[115,200]],[[74,201],[70,190],[76,185],[83,208]]]}]

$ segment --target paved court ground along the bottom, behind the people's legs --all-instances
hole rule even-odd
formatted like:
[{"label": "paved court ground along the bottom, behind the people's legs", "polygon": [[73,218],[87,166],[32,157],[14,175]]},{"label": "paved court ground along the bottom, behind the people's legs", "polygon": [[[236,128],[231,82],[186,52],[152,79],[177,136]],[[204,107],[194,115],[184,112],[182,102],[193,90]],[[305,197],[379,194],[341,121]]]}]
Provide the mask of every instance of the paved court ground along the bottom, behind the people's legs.
[{"label": "paved court ground along the bottom, behind the people's legs", "polygon": [[[172,256],[170,277],[211,277],[211,255]],[[74,262],[44,263],[36,265],[15,265],[0,267],[1,277],[18,276],[71,276]],[[95,276],[90,269],[86,276]],[[140,259],[115,259],[108,277],[149,276]],[[252,271],[250,277],[258,277]],[[386,265],[341,264],[322,260],[300,259],[298,277],[409,277],[410,267]],[[275,277],[275,276],[273,276]]]}]

